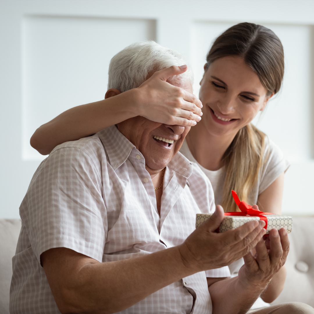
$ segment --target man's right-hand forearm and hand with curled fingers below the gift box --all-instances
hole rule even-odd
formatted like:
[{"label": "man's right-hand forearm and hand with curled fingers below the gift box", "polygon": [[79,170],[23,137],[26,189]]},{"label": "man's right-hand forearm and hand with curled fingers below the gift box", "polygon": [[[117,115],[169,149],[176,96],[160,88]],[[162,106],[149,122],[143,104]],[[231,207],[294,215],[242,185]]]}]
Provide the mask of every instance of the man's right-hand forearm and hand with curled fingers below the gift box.
[{"label": "man's right-hand forearm and hand with curled fingers below the gift box", "polygon": [[[253,208],[258,209],[256,205]],[[264,233],[265,231],[261,234]],[[279,232],[271,230],[266,245],[260,238],[255,250],[254,257],[249,251],[243,256],[245,264],[240,268],[239,276],[209,286],[214,313],[246,313],[250,309],[286,261],[289,252],[287,232],[284,229]]]}]

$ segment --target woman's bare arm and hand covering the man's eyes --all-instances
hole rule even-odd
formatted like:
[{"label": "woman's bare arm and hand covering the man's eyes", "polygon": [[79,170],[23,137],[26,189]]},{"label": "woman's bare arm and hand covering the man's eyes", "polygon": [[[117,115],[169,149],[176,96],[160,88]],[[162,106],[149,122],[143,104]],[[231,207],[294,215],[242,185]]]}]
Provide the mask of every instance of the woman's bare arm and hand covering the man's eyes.
[{"label": "woman's bare arm and hand covering the man's eyes", "polygon": [[71,108],[43,124],[31,137],[30,144],[46,155],[61,143],[89,136],[134,116],[193,126],[201,119],[202,103],[187,90],[167,82],[171,76],[186,70],[187,67],[172,66],[155,72],[138,88],[123,93],[109,89],[104,100]]}]

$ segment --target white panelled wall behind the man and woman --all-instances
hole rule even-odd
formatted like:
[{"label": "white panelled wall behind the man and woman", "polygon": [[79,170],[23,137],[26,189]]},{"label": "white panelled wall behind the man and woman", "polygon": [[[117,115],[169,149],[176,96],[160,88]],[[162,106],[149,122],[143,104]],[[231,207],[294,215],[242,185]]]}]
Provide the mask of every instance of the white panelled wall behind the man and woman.
[{"label": "white panelled wall behind the man and woman", "polygon": [[103,99],[110,58],[143,39],[183,52],[195,92],[210,43],[242,21],[263,24],[281,39],[285,77],[257,126],[291,162],[283,212],[314,214],[312,24],[314,3],[263,1],[0,0],[0,218],[19,204],[44,158],[29,145],[35,129],[71,106]]}]

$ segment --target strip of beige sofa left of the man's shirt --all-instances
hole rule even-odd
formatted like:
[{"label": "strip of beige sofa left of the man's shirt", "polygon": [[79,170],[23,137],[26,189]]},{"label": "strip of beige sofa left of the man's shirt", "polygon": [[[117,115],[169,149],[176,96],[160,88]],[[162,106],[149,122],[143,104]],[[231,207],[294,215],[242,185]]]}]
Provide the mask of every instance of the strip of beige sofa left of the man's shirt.
[{"label": "strip of beige sofa left of the man's shirt", "polygon": [[9,314],[12,257],[21,230],[20,219],[0,219],[0,313]]}]

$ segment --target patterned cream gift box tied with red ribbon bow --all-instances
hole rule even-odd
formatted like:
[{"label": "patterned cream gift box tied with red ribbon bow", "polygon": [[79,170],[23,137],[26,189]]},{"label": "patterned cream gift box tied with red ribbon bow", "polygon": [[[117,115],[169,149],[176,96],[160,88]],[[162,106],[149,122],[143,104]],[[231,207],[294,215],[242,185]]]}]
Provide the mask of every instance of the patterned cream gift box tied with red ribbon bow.
[{"label": "patterned cream gift box tied with red ribbon bow", "polygon": [[[239,206],[241,212],[225,213],[225,217],[219,226],[219,232],[236,229],[251,220],[264,220],[266,234],[269,234],[269,231],[272,229],[279,230],[281,228],[284,228],[287,233],[291,232],[291,216],[261,212],[259,210],[253,209],[252,206],[246,204],[244,201],[240,202],[236,192],[232,191],[232,196],[235,199],[236,204]],[[211,215],[212,214],[196,214],[196,228],[204,221],[209,219]]]}]

